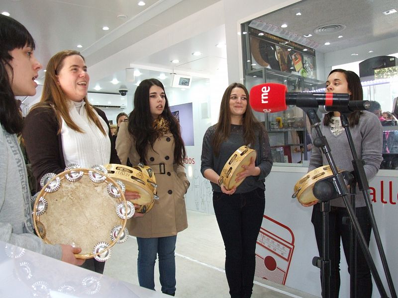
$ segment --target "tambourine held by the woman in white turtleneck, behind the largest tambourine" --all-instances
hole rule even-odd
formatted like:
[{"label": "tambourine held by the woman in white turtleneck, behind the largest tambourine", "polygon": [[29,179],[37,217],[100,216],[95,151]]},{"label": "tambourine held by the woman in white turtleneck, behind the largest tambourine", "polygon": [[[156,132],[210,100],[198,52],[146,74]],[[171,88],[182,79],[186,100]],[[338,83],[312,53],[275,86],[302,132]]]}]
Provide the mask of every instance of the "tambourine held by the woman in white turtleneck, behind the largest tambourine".
[{"label": "tambourine held by the woman in white turtleneck, behind the largest tambourine", "polygon": [[124,183],[126,190],[138,192],[140,198],[134,200],[134,204],[140,205],[135,212],[149,212],[154,200],[158,199],[156,195],[156,178],[153,170],[146,165],[138,164],[133,167],[126,165],[108,163],[105,164],[107,175],[113,179],[120,180]]}]

